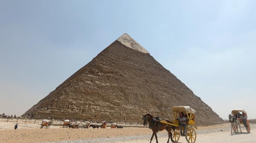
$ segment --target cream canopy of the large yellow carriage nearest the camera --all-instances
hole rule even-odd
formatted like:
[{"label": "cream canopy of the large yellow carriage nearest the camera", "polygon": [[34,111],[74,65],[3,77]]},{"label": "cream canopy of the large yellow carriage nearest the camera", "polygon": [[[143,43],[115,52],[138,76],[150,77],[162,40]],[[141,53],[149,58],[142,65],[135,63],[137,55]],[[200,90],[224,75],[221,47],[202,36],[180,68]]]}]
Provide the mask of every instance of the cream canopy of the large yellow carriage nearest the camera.
[{"label": "cream canopy of the large yellow carriage nearest the camera", "polygon": [[183,112],[187,116],[188,120],[193,120],[196,114],[196,111],[190,106],[174,106],[172,107],[172,114],[175,119],[179,117],[179,113]]}]

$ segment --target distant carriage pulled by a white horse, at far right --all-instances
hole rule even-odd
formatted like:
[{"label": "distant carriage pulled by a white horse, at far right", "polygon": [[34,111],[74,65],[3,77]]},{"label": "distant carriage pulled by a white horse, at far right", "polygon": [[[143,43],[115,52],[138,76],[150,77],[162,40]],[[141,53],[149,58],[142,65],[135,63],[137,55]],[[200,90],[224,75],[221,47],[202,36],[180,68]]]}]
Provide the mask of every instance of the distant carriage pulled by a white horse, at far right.
[{"label": "distant carriage pulled by a white horse, at far right", "polygon": [[[238,131],[238,125],[239,125],[240,131],[241,131],[240,124],[243,124],[244,127],[242,127],[242,128],[246,128],[247,132],[249,133],[250,132],[250,124],[249,124],[249,120],[247,119],[246,111],[244,109],[237,109],[237,110],[232,110],[231,114],[232,114],[232,116],[229,116],[229,119],[230,119],[231,128],[233,129],[233,131]],[[238,120],[237,123],[236,123],[236,119]],[[232,132],[232,129],[231,129],[231,132]]]}]

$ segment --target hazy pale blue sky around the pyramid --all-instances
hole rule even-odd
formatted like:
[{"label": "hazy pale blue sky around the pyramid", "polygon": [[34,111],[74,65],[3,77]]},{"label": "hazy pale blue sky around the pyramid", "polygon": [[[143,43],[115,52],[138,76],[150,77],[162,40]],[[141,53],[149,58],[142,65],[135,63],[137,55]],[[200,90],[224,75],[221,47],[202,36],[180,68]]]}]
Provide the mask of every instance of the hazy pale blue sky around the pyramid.
[{"label": "hazy pale blue sky around the pyramid", "polygon": [[256,119],[255,7],[246,0],[0,0],[0,114],[25,113],[127,33],[220,117],[245,109]]}]

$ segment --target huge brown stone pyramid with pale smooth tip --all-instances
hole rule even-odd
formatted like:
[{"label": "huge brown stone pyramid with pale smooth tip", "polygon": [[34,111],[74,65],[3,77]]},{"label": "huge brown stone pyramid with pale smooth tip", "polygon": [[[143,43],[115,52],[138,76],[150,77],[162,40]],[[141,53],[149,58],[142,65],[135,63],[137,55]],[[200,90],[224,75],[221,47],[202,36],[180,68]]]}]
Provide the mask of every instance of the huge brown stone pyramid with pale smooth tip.
[{"label": "huge brown stone pyramid with pale smooth tip", "polygon": [[223,123],[146,49],[123,34],[23,116],[142,122],[146,113],[172,118],[172,106],[191,106],[197,111],[197,124]]}]

